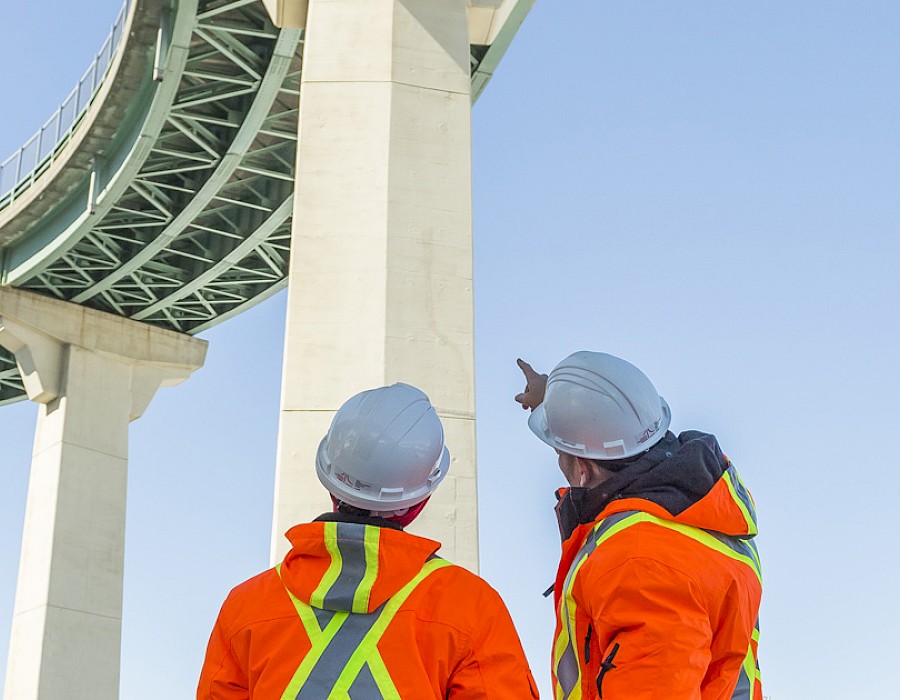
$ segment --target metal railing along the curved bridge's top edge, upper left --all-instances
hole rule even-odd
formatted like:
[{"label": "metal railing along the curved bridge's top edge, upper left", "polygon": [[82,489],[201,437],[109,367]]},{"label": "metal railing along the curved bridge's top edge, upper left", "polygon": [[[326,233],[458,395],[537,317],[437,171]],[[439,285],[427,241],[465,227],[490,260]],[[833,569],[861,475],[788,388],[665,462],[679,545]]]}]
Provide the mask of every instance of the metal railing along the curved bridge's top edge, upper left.
[{"label": "metal railing along the curved bridge's top edge, upper left", "polygon": [[0,163],[0,210],[15,201],[59,156],[87,113],[109,72],[122,43],[128,9],[133,0],[125,0],[106,41],[97,52],[81,80],[53,116],[15,153]]}]

